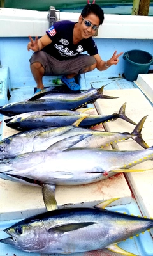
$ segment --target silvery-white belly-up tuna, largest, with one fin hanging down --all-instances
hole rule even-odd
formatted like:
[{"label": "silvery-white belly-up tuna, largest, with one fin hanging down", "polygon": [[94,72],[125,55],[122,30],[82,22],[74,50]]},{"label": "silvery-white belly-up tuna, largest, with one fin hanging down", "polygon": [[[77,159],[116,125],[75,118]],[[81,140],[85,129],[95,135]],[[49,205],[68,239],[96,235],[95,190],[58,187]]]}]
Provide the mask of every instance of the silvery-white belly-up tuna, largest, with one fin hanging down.
[{"label": "silvery-white belly-up tuna, largest, with one fin hanging down", "polygon": [[[101,148],[71,148],[90,134],[58,141],[44,151],[29,152],[0,161],[0,177],[5,180],[43,186],[45,202],[57,208],[56,185],[89,184],[128,170],[138,163],[153,159],[153,146],[145,150],[115,151]],[[46,204],[46,203],[45,203]],[[48,204],[48,203],[47,203]],[[47,205],[50,209],[50,205]]]}]

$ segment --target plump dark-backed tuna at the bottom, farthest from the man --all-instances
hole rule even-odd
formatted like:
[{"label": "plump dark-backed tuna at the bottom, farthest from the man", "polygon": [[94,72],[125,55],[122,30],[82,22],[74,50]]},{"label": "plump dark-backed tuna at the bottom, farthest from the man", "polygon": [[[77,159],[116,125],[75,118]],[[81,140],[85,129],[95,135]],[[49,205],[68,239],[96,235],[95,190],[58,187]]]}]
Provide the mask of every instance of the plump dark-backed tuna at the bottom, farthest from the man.
[{"label": "plump dark-backed tuna at the bottom, farthest from the man", "polygon": [[[108,248],[133,256],[120,241],[150,230],[153,220],[96,208],[49,211],[26,218],[9,228],[0,242],[34,253],[67,254]],[[103,255],[103,254],[101,254]]]}]

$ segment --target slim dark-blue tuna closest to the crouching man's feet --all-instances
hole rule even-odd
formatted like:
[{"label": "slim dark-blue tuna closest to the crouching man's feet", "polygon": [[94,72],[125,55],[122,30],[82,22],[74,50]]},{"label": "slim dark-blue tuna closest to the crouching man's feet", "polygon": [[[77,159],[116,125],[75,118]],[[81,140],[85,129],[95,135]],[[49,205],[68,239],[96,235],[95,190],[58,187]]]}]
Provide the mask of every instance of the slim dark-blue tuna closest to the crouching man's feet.
[{"label": "slim dark-blue tuna closest to the crouching man's feet", "polygon": [[97,99],[116,99],[117,97],[106,96],[101,89],[91,89],[84,93],[51,93],[42,97],[38,93],[29,100],[6,104],[0,108],[0,113],[5,116],[14,116],[21,113],[46,110],[75,110],[95,102]]}]

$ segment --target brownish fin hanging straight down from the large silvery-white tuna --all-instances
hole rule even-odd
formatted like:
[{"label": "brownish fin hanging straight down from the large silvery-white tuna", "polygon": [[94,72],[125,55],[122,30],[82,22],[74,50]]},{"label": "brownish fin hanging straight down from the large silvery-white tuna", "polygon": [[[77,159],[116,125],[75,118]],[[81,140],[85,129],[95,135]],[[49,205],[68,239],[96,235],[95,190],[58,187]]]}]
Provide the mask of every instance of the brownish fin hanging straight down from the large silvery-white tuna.
[{"label": "brownish fin hanging straight down from the large silvery-white tuna", "polygon": [[47,211],[58,209],[57,201],[55,199],[55,185],[43,184],[43,200]]}]

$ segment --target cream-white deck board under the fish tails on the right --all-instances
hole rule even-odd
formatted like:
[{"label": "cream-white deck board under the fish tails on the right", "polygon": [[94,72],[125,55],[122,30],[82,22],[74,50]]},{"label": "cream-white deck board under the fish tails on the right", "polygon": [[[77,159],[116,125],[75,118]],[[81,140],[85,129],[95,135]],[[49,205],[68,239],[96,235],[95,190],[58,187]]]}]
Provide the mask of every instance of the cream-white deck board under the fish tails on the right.
[{"label": "cream-white deck board under the fish tails on the right", "polygon": [[[153,108],[146,97],[139,89],[123,89],[123,90],[107,90],[106,95],[119,96],[118,99],[99,99],[95,106],[98,113],[108,114],[113,111],[119,111],[124,102],[127,102],[126,115],[135,122],[148,115],[147,120],[142,129],[143,140],[147,142],[149,147],[153,145]],[[114,103],[113,103],[114,102]],[[106,123],[108,131],[132,132],[134,125],[127,124],[124,120],[116,120],[115,122]],[[133,140],[117,143],[119,150],[140,150],[142,147]],[[142,211],[143,216],[153,217],[153,161],[146,161],[138,164],[136,168],[151,168],[147,172],[128,173],[126,177],[133,191],[133,195]]]}]

